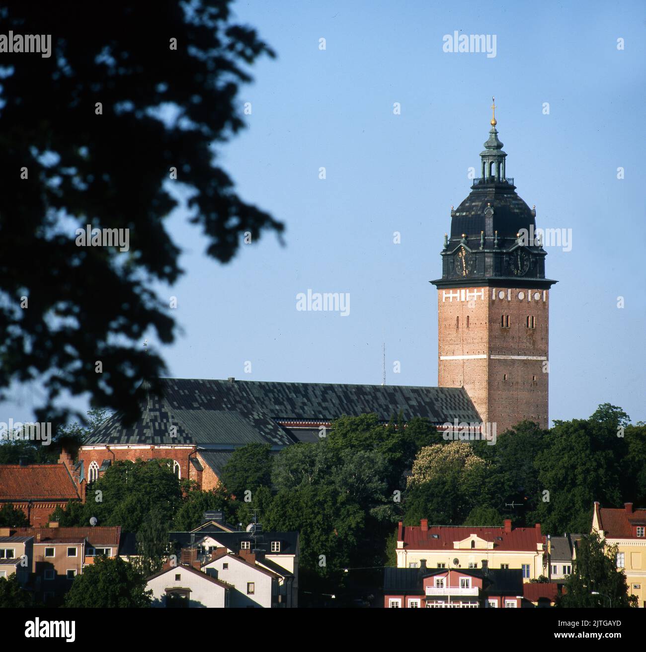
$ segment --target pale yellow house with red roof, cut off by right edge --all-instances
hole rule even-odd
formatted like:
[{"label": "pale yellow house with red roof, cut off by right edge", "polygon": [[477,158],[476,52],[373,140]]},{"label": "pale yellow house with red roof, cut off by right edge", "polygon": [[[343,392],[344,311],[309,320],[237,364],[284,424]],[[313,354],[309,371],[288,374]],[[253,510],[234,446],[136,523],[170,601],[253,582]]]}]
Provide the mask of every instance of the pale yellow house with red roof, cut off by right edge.
[{"label": "pale yellow house with red roof, cut off by right edge", "polygon": [[640,607],[646,606],[646,509],[604,509],[595,502],[592,531],[617,546],[617,568],[626,574],[628,593],[635,595]]}]

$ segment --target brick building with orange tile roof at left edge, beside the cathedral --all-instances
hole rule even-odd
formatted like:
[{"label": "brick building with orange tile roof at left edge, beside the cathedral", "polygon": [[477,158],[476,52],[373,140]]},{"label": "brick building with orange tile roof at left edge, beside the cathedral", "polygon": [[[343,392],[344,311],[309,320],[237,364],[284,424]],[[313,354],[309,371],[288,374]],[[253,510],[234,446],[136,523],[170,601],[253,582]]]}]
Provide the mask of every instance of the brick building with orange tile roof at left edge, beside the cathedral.
[{"label": "brick building with orange tile roof at left edge, beside the cathedral", "polygon": [[81,486],[69,456],[58,464],[0,464],[0,503],[22,509],[33,527],[45,526],[51,512],[81,501]]}]

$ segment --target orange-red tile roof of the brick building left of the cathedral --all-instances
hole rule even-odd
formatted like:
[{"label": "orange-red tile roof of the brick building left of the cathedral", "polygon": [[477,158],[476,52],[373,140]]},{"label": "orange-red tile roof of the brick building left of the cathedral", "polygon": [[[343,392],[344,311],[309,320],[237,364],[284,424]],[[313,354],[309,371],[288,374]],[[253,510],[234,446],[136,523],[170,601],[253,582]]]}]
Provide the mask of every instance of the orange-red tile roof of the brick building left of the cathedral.
[{"label": "orange-red tile roof of the brick building left of the cathedral", "polygon": [[79,495],[65,464],[0,464],[0,500],[73,500]]}]

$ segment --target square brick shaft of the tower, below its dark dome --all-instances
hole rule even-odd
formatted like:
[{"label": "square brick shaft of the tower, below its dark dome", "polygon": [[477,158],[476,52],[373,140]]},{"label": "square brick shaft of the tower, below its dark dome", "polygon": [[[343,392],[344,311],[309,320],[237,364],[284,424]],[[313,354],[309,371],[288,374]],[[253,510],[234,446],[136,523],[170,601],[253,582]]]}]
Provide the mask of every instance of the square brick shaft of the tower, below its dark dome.
[{"label": "square brick shaft of the tower, below its dark dome", "polygon": [[[437,295],[437,384],[465,387],[482,421],[495,422],[498,434],[523,419],[546,428],[548,374],[543,372],[544,362],[492,356],[548,357],[549,291],[440,288]],[[508,328],[501,326],[503,315],[509,316]],[[535,318],[533,329],[526,326],[527,316]],[[442,359],[474,355],[483,357]]]}]

